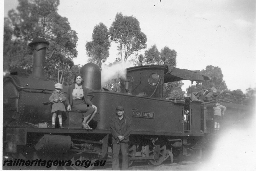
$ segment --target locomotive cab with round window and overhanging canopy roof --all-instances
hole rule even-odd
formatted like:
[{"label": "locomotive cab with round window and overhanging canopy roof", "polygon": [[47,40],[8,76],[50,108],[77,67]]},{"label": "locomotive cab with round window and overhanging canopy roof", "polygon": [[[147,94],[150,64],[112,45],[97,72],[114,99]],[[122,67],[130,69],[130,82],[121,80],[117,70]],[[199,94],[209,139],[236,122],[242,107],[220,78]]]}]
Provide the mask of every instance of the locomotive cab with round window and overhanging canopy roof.
[{"label": "locomotive cab with round window and overhanging canopy roof", "polygon": [[121,82],[121,93],[163,99],[164,83],[181,80],[204,81],[200,71],[179,69],[170,65],[146,65],[127,68],[126,80]]}]

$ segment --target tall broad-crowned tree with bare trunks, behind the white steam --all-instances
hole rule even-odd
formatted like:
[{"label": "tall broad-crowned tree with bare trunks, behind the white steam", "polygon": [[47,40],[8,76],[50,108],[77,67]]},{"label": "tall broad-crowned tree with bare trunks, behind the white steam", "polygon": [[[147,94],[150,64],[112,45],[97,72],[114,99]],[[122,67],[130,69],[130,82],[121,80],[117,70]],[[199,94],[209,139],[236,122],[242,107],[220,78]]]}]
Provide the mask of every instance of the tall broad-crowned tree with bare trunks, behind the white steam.
[{"label": "tall broad-crowned tree with bare trunks, behind the white steam", "polygon": [[109,28],[110,40],[118,43],[120,58],[126,61],[133,53],[147,47],[147,36],[141,32],[139,21],[133,16],[117,13],[115,21]]}]

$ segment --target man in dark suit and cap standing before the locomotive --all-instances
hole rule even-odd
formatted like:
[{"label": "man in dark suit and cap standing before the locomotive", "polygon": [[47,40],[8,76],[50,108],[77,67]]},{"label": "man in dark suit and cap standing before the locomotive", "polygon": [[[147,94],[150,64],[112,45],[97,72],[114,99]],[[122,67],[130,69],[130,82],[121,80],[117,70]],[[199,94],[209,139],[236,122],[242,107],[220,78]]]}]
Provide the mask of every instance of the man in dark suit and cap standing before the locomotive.
[{"label": "man in dark suit and cap standing before the locomotive", "polygon": [[116,115],[110,121],[112,134],[113,159],[112,170],[119,170],[119,152],[122,152],[122,170],[128,169],[128,142],[131,133],[131,119],[124,115],[124,108],[118,106]]}]

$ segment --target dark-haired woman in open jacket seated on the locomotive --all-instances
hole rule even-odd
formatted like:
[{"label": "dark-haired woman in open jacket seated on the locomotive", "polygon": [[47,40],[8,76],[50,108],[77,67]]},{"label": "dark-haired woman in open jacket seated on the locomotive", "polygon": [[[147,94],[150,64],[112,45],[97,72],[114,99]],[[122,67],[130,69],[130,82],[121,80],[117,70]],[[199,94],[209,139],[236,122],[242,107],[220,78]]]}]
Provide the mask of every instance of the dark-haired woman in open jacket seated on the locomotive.
[{"label": "dark-haired woman in open jacket seated on the locomotive", "polygon": [[92,120],[95,113],[97,112],[97,107],[92,104],[90,98],[87,96],[86,89],[82,88],[83,81],[84,80],[80,75],[75,75],[74,84],[68,87],[67,102],[66,102],[68,105],[67,110],[71,111],[71,107],[72,107],[72,111],[78,111],[83,113],[83,117],[84,117],[84,120],[82,123],[83,128],[92,129],[88,125],[88,123]]}]

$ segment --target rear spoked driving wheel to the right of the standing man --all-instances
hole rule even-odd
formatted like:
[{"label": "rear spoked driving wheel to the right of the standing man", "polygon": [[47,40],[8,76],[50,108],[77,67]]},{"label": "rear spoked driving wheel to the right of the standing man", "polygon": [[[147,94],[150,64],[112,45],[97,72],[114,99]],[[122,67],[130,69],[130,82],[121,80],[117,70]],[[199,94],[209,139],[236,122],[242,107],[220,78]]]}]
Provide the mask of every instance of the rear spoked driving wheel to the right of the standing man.
[{"label": "rear spoked driving wheel to the right of the standing man", "polygon": [[149,156],[153,156],[153,160],[149,160],[152,165],[158,166],[163,163],[166,156],[166,146],[156,145],[155,149],[149,154]]}]

